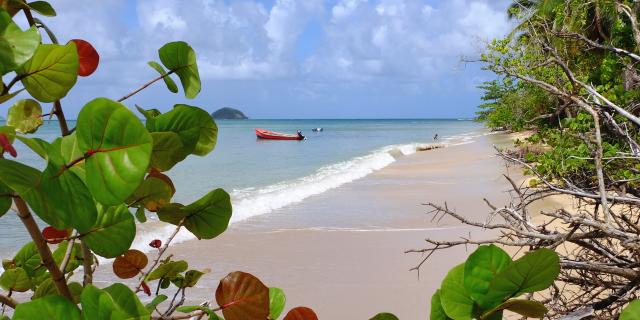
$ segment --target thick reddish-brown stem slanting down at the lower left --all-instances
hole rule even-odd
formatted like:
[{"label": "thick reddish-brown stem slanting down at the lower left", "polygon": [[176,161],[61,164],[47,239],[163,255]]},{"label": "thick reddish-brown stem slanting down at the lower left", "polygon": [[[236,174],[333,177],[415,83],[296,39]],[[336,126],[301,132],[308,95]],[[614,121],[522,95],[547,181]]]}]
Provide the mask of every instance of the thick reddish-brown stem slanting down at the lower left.
[{"label": "thick reddish-brown stem slanting down at the lower left", "polygon": [[36,224],[36,221],[33,219],[31,212],[29,212],[27,204],[20,197],[15,197],[13,201],[16,204],[16,208],[18,209],[18,216],[22,220],[24,226],[27,228],[29,235],[31,235],[31,239],[33,239],[33,243],[35,243],[36,248],[38,249],[38,253],[40,253],[40,257],[42,258],[42,264],[47,268],[47,270],[49,270],[51,279],[56,285],[58,292],[60,292],[60,294],[65,296],[67,299],[73,301],[71,291],[69,291],[69,286],[67,286],[67,282],[64,278],[64,273],[60,271],[55,261],[53,260],[51,250],[49,249],[47,242],[44,240],[38,224]]}]

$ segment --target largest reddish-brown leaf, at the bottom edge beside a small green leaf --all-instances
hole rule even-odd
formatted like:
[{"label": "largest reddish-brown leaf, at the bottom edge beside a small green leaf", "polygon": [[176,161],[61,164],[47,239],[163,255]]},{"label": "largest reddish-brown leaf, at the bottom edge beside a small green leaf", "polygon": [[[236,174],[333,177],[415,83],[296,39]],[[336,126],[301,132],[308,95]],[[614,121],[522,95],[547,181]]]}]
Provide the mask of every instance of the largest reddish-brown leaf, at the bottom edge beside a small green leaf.
[{"label": "largest reddish-brown leaf, at the bottom edge beside a small green leaf", "polygon": [[216,302],[226,320],[266,319],[269,316],[269,288],[245,272],[232,272],[216,289]]}]

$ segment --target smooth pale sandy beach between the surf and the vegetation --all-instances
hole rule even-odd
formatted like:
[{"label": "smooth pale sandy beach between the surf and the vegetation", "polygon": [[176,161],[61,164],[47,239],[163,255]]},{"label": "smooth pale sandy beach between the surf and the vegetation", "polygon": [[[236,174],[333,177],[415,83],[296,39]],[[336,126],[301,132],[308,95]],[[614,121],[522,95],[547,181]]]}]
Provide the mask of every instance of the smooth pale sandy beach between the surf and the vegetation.
[{"label": "smooth pale sandy beach between the surf and the vegetation", "polygon": [[[188,292],[187,303],[214,299],[218,280],[242,270],[282,288],[287,309],[309,306],[320,319],[369,319],[383,311],[400,319],[427,318],[431,295],[468,252],[436,253],[420,274],[409,269],[421,256],[404,252],[424,247],[426,237],[490,234],[446,219],[432,222],[423,203],[447,202],[482,221],[489,212],[483,198],[495,204],[508,199],[506,168],[493,149],[505,141],[505,135],[489,135],[400,157],[363,179],[233,224],[219,238],[173,245],[173,259],[212,269]],[[99,272],[97,282],[111,277]]]}]

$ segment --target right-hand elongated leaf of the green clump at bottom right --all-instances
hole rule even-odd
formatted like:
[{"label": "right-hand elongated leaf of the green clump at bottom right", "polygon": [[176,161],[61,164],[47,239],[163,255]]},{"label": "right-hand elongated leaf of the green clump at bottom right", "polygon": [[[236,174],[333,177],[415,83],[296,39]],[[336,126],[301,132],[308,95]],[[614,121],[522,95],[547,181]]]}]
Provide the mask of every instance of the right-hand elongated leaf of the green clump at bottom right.
[{"label": "right-hand elongated leaf of the green clump at bottom right", "polygon": [[559,273],[560,259],[552,250],[527,252],[496,275],[478,304],[484,309],[493,309],[509,298],[546,289]]}]

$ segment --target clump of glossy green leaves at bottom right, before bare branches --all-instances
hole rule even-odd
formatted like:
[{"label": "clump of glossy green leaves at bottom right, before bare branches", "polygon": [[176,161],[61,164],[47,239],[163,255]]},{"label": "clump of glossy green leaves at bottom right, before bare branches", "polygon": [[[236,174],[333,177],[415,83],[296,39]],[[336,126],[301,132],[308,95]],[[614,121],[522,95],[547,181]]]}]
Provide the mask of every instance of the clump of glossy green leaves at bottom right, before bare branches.
[{"label": "clump of glossy green leaves at bottom right, before bare branches", "polygon": [[495,245],[480,246],[449,271],[431,299],[431,320],[497,320],[504,310],[542,318],[547,308],[517,299],[548,288],[560,273],[558,255],[538,249],[512,261]]}]

